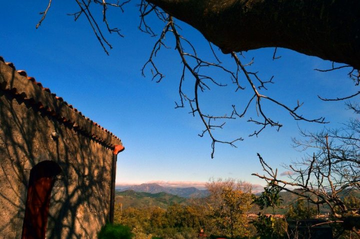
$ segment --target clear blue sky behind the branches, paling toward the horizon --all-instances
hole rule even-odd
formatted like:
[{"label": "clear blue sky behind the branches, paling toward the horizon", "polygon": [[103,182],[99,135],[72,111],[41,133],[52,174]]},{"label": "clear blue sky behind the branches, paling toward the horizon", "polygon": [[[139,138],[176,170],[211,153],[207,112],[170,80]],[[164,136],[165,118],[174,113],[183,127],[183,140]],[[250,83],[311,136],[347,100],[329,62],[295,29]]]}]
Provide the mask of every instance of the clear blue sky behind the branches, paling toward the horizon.
[{"label": "clear blue sky behind the branches, paling toward the horizon", "polygon": [[[211,177],[231,177],[263,185],[263,181],[250,175],[261,172],[256,153],[273,167],[280,167],[303,155],[291,147],[291,137],[298,137],[298,128],[316,131],[323,127],[294,121],[281,108],[264,103],[268,115],[284,125],[280,131],[268,128],[257,138],[247,137],[256,129],[246,122],[250,116],[255,117],[252,107],[247,117],[229,122],[224,130],[216,132],[219,139],[240,136],[244,141],[237,143],[237,148],[217,144],[215,158],[211,159],[210,139],[197,136],[203,129],[200,119],[188,114],[188,107],[174,109],[181,64],[170,35],[167,43],[172,48],[164,49],[156,57],[165,78],[155,83],[149,77],[149,70],[145,72],[146,77],[141,76],[140,69],[156,38],[137,29],[139,13],[134,2],[124,7],[124,13],[109,11],[110,23],[122,29],[125,35],[120,38],[104,30],[113,46],[109,56],[85,18],[74,22],[66,15],[77,10],[72,1],[53,1],[46,19],[35,29],[40,19],[38,12],[45,7],[46,2],[40,0],[1,3],[0,55],[122,139],[125,151],[118,155],[118,184],[191,185],[191,182],[206,182]],[[100,17],[100,8],[94,10]],[[160,32],[160,23],[151,18],[149,23]],[[211,59],[208,44],[201,34],[180,24],[183,35],[194,43],[198,52]],[[269,85],[263,94],[292,107],[296,100],[303,101],[299,112],[308,118],[326,117],[331,122],[327,127],[339,127],[353,116],[344,110],[344,102],[322,102],[317,98],[317,95],[331,98],[357,92],[346,77],[346,71],[319,73],[313,69],[328,68],[330,62],[286,49],[277,52],[281,58],[276,61],[271,60],[273,49],[244,53],[244,63],[254,57],[251,69],[259,71],[260,77],[266,79],[274,75],[275,84]],[[229,56],[220,57],[225,65],[231,66]],[[215,76],[229,83],[220,73],[215,72]],[[243,77],[242,82],[249,88]],[[190,94],[193,79],[188,77],[184,84]],[[200,95],[200,102],[203,109],[224,114],[231,111],[231,104],[243,108],[248,94],[249,91],[235,93],[232,86],[212,87],[211,91]]]}]

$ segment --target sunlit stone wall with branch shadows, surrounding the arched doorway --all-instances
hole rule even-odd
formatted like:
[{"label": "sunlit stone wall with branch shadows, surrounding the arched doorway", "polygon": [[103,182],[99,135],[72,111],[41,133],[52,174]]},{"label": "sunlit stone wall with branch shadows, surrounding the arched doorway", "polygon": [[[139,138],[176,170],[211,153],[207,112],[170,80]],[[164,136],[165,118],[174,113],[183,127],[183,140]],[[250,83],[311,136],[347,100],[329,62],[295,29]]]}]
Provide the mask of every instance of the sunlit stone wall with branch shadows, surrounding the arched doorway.
[{"label": "sunlit stone wall with branch shadows, surrounding the arched doorway", "polygon": [[[21,237],[29,173],[46,160],[57,163],[62,171],[51,191],[46,238],[96,238],[109,214],[113,145],[79,130],[57,111],[39,107],[36,100],[24,96],[29,93],[6,87],[11,84],[6,70],[10,67],[2,65],[0,238]],[[23,78],[20,80],[26,80]],[[51,136],[53,132],[58,138]]]}]

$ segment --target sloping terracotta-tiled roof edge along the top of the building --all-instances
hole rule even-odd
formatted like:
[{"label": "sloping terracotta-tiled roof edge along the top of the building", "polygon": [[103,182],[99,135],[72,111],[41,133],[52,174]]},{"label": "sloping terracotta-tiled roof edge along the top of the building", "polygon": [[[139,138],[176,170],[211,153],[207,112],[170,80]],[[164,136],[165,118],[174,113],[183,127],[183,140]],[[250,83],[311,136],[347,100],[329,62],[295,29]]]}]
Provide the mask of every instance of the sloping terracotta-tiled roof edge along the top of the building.
[{"label": "sloping terracotta-tiled roof edge along the top of the building", "polygon": [[[6,68],[4,65],[11,67],[12,70]],[[5,62],[0,56],[1,73],[4,76],[7,74],[7,78],[11,78],[13,70],[15,70],[14,64],[11,62]],[[64,123],[69,123],[74,129],[82,131],[84,134],[97,140],[98,142],[106,144],[110,148],[113,148],[115,145],[122,145],[121,140],[113,133],[83,116],[80,111],[64,101],[62,97],[58,97],[56,94],[51,93],[49,88],[43,88],[42,84],[40,82],[36,82],[35,78],[27,77],[27,73],[24,70],[18,70],[16,72],[19,77],[15,76],[14,81],[17,80],[17,82],[12,83],[10,86],[8,82],[6,82],[6,77],[4,79],[0,78],[0,88],[10,90],[13,94],[19,95],[28,100],[30,104],[35,105],[38,109],[44,109],[51,116],[56,117]],[[31,83],[21,81],[21,77],[26,77],[25,79]],[[65,105],[65,107],[63,107],[63,105]],[[97,127],[93,128],[91,126]]]}]

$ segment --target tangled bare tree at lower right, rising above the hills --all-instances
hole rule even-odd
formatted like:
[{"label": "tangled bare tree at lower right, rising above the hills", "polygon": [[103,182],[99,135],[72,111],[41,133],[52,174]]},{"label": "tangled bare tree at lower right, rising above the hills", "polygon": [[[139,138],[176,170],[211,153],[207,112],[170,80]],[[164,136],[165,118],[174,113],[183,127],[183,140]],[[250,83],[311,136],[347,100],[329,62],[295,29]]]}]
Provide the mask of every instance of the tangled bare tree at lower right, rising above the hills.
[{"label": "tangled bare tree at lower right, rising above the hills", "polygon": [[360,188],[359,120],[350,120],[341,129],[300,133],[305,140],[293,139],[295,146],[307,151],[313,149],[315,152],[311,157],[305,155],[300,161],[284,165],[294,172],[289,180],[278,179],[259,154],[266,175],[253,175],[273,187],[306,198],[312,204],[327,204],[336,218],[358,216],[360,212],[357,205],[346,204],[340,195],[347,195],[350,190]]}]

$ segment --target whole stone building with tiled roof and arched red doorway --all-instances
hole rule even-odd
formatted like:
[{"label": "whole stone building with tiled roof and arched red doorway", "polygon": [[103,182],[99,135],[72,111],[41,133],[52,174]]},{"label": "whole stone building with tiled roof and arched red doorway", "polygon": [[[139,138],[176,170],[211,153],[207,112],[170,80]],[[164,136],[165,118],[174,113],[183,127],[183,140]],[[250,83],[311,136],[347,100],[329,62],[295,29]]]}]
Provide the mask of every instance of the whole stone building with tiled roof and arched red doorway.
[{"label": "whole stone building with tiled roof and arched red doorway", "polygon": [[0,238],[96,238],[113,219],[115,135],[0,57]]}]

